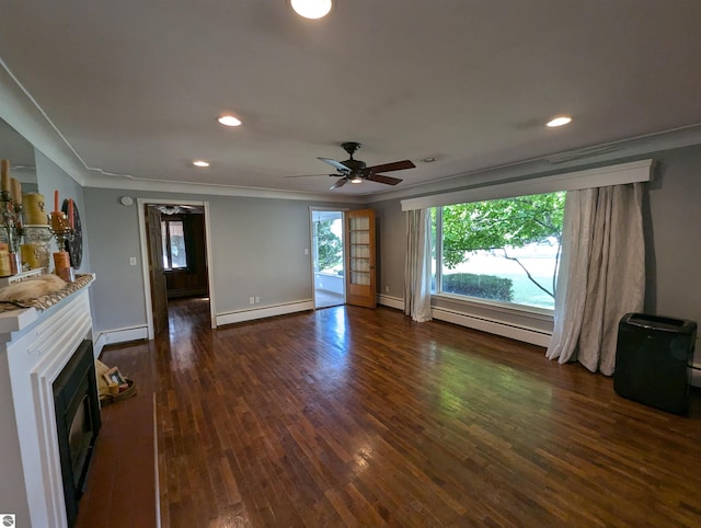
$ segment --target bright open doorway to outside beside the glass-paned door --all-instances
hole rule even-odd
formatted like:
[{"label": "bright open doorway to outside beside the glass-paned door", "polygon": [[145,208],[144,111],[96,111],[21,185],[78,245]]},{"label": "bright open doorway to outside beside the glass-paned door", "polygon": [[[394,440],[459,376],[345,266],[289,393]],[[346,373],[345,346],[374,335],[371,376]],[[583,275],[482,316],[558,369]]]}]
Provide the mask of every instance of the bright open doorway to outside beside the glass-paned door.
[{"label": "bright open doorway to outside beside the glass-paned door", "polygon": [[311,211],[314,308],[345,303],[343,211]]}]

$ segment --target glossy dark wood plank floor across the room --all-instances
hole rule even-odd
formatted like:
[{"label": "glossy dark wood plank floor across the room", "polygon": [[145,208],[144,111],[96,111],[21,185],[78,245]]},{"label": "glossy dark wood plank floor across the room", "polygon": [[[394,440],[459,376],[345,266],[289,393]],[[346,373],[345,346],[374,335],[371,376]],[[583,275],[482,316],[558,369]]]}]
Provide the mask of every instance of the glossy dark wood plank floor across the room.
[{"label": "glossy dark wood plank floor across the room", "polygon": [[[104,353],[145,380],[111,413],[157,394],[164,527],[701,526],[698,395],[676,416],[542,348],[382,308],[218,331],[206,303],[170,309],[168,335]],[[140,518],[124,493],[93,507],[97,464],[133,455],[97,452],[81,526]],[[152,491],[130,507],[154,512]]]}]

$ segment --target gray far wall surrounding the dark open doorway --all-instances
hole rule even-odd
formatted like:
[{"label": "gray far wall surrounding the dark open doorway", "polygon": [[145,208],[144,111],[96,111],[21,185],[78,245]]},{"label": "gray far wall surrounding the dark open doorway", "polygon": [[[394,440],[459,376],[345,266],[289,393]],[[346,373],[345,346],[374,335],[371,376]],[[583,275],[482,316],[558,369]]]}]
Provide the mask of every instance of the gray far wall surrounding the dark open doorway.
[{"label": "gray far wall surrounding the dark open doorway", "polygon": [[[92,271],[97,275],[93,286],[96,332],[147,323],[136,198],[209,203],[216,314],[251,309],[249,297],[261,298],[256,308],[311,299],[311,263],[304,254],[310,248],[309,207],[353,208],[348,204],[91,187],[84,193]],[[118,203],[125,194],[135,198],[134,205]],[[129,265],[131,256],[137,257],[137,266]]]}]

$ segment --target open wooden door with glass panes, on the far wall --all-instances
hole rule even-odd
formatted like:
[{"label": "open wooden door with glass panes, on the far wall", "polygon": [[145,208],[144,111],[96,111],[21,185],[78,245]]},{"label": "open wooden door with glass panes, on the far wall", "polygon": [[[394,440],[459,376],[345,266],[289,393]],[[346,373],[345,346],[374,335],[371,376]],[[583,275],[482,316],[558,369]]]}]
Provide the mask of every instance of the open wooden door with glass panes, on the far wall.
[{"label": "open wooden door with glass panes, on the far wall", "polygon": [[375,273],[375,210],[345,213],[346,302],[377,307]]}]

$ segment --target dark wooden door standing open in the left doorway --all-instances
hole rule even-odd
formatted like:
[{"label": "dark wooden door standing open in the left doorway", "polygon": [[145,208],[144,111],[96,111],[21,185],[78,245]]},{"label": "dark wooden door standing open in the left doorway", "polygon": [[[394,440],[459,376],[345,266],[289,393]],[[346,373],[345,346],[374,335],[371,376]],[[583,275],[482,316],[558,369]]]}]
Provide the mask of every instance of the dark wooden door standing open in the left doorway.
[{"label": "dark wooden door standing open in the left doorway", "polygon": [[146,232],[149,245],[149,276],[151,280],[151,310],[153,311],[153,335],[168,328],[168,292],[163,268],[163,234],[161,214],[156,207],[146,206]]}]

